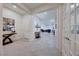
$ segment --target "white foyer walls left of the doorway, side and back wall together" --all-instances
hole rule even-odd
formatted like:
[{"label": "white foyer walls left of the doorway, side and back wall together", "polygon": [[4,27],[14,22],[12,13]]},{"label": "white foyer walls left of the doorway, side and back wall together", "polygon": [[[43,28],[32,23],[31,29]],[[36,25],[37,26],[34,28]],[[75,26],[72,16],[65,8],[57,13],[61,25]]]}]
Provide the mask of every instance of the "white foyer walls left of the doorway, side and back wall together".
[{"label": "white foyer walls left of the doorway, side and back wall together", "polygon": [[4,8],[3,17],[15,19],[15,30],[17,33],[15,39],[34,39],[34,31],[32,28],[32,15],[26,14],[24,16],[21,16],[14,11]]}]

